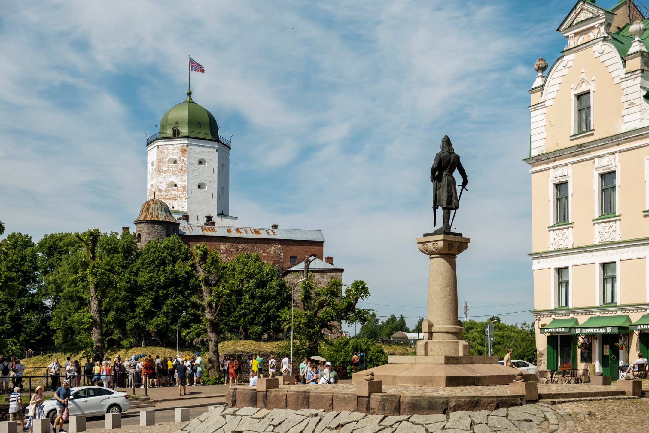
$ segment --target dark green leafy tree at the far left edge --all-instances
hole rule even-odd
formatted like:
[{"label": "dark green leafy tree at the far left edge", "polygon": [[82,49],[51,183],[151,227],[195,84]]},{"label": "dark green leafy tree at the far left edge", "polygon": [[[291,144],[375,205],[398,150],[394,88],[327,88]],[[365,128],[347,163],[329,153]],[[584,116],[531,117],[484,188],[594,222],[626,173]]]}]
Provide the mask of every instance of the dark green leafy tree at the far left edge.
[{"label": "dark green leafy tree at the far left edge", "polygon": [[47,314],[31,236],[10,233],[0,241],[0,353],[19,354],[48,340]]}]

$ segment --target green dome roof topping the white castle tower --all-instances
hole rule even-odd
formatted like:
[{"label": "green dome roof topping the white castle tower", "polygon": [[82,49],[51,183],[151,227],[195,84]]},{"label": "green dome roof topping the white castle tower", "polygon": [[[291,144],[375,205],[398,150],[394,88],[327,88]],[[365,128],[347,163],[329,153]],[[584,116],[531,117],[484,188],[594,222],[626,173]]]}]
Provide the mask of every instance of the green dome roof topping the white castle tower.
[{"label": "green dome roof topping the white castle tower", "polygon": [[191,99],[191,90],[187,90],[187,99],[174,105],[160,120],[158,138],[195,137],[204,140],[219,141],[219,126],[208,110]]}]

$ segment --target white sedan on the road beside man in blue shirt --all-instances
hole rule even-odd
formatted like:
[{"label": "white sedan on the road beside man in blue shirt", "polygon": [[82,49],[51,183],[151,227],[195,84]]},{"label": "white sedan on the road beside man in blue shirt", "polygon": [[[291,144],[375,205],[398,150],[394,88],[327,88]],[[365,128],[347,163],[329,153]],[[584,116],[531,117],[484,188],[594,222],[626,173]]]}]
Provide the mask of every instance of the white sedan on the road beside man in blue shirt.
[{"label": "white sedan on the road beside man in blue shirt", "polygon": [[[130,408],[129,395],[125,392],[111,390],[100,386],[79,386],[70,388],[70,400],[67,409],[70,416],[87,417],[104,414],[121,414]],[[56,398],[43,402],[43,412],[54,424],[56,418]]]}]

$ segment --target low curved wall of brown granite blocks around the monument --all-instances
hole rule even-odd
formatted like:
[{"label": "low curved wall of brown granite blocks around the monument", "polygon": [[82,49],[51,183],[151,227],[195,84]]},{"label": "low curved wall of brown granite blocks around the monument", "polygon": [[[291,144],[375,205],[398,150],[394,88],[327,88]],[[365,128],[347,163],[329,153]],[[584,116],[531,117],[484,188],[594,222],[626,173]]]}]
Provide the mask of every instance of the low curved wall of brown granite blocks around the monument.
[{"label": "low curved wall of brown granite blocks around the monument", "polygon": [[413,395],[375,393],[359,397],[356,393],[311,390],[307,386],[257,391],[254,388],[229,388],[228,408],[313,409],[324,412],[347,410],[373,415],[432,415],[461,410],[494,411],[525,404],[524,395]]}]

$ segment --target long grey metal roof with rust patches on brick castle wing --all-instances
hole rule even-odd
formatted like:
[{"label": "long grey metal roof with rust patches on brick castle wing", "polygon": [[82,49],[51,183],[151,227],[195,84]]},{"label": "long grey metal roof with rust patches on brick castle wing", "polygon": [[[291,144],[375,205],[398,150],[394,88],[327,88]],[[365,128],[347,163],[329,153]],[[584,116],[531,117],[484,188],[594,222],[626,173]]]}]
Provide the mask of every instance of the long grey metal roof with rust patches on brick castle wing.
[{"label": "long grey metal roof with rust patches on brick castle wing", "polygon": [[288,239],[324,242],[322,230],[254,229],[253,227],[230,227],[219,225],[181,224],[180,234],[193,236],[224,236],[227,238]]}]

